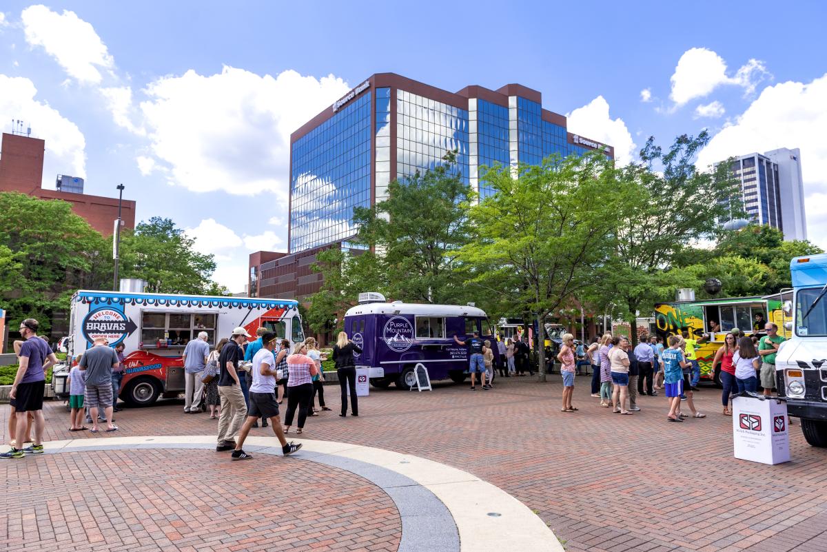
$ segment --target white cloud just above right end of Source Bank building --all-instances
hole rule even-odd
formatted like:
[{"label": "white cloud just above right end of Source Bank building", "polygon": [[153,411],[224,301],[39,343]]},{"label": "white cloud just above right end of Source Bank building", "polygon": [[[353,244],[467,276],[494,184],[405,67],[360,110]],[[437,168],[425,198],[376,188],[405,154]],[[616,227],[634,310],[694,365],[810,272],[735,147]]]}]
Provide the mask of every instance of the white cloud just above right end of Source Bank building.
[{"label": "white cloud just above right end of Source Bank building", "polygon": [[633,159],[635,144],[632,135],[623,119],[611,118],[609,102],[603,96],[578,107],[566,117],[569,132],[614,146],[614,159],[618,164],[628,164]]}]

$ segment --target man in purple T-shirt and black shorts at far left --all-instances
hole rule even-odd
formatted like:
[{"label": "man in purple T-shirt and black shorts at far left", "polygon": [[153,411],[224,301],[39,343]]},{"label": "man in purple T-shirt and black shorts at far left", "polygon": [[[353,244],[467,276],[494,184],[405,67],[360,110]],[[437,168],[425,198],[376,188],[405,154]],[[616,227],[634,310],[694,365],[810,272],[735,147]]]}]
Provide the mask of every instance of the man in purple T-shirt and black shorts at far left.
[{"label": "man in purple T-shirt and black shorts at far left", "polygon": [[52,364],[57,363],[57,357],[49,348],[49,344],[37,336],[39,326],[34,318],[26,318],[20,324],[20,335],[25,341],[20,349],[20,367],[9,393],[10,404],[17,418],[15,445],[22,447],[26,437],[26,412],[31,412],[35,418],[35,441],[25,449],[12,447],[12,450],[0,454],[2,459],[17,459],[23,458],[26,454],[43,453],[45,373]]}]

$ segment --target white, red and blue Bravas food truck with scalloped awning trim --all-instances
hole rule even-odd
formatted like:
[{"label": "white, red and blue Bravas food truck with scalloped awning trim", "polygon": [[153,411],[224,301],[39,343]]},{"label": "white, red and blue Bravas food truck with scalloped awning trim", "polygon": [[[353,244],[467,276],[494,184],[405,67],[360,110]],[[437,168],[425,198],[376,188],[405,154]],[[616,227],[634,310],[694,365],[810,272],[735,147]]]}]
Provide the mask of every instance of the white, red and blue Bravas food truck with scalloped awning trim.
[{"label": "white, red and blue Bravas food truck with scalloped awning trim", "polygon": [[237,326],[253,336],[251,341],[259,326],[291,345],[304,340],[298,303],[287,299],[81,290],[69,312],[68,358],[77,362],[97,337],[112,347],[124,344],[120,397],[143,407],[184,391],[181,355],[189,340],[205,331],[215,346]]}]

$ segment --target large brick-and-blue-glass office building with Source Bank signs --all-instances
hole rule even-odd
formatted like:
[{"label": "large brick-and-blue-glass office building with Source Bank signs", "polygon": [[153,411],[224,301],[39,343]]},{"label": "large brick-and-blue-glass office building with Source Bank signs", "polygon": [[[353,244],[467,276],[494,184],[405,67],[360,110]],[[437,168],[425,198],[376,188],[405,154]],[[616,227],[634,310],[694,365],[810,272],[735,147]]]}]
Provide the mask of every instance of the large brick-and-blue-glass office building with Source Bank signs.
[{"label": "large brick-and-blue-glass office building with Source Bank signs", "polygon": [[[354,207],[388,197],[388,184],[433,169],[449,150],[480,197],[493,190],[485,166],[539,164],[611,145],[572,134],[566,117],[543,109],[537,90],[506,84],[457,93],[392,73],[374,74],[290,136],[289,254],[250,256],[251,297],[307,297],[318,291],[318,251],[350,248]],[[267,260],[265,260],[267,259]]]}]

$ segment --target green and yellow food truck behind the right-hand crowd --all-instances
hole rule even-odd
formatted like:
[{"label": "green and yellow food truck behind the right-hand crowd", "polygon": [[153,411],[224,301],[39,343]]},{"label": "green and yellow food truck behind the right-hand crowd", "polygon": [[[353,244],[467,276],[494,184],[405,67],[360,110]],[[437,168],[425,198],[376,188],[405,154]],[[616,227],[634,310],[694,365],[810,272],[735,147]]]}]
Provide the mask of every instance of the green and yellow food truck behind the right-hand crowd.
[{"label": "green and yellow food truck behind the right-hand crowd", "polygon": [[[727,332],[738,328],[746,335],[755,330],[755,321],[760,314],[764,321],[773,321],[778,325],[778,335],[788,336],[783,329],[783,312],[781,297],[777,294],[767,297],[728,297],[708,301],[677,301],[657,303],[655,305],[655,325],[658,337],[663,338],[664,346],[672,335],[689,331],[692,339],[700,340],[702,335],[708,339],[696,348],[696,358],[700,365],[700,378],[720,385],[720,366],[713,366],[715,352],[724,345]],[[717,326],[712,326],[715,322]],[[761,327],[756,331],[764,335]]]}]

